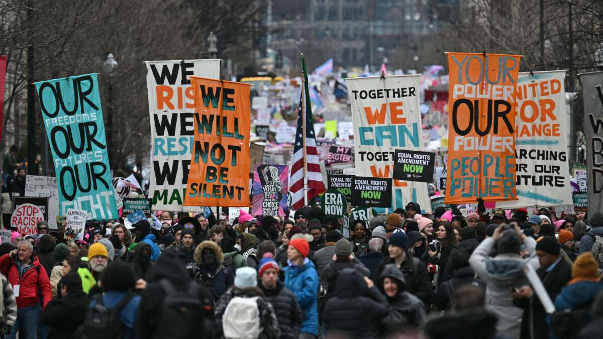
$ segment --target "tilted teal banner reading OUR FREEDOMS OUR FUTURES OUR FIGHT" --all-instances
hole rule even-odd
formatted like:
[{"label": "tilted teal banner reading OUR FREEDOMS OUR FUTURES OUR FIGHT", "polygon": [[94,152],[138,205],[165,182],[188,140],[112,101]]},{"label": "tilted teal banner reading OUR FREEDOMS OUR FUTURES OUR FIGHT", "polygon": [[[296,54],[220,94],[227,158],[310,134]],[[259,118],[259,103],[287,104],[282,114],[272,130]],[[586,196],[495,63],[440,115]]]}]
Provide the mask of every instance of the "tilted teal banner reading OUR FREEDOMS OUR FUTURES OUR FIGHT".
[{"label": "tilted teal banner reading OUR FREEDOMS OUR FUTURES OUR FIGHT", "polygon": [[57,173],[59,215],[118,218],[96,74],[34,83]]}]

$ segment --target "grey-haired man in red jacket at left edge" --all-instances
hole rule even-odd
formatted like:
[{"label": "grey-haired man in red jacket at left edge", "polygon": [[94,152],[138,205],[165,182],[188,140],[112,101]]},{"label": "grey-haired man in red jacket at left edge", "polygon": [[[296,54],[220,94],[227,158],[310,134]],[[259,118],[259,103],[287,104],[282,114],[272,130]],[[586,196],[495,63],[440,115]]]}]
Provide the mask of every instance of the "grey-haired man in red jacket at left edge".
[{"label": "grey-haired man in red jacket at left edge", "polygon": [[16,250],[0,256],[0,273],[8,277],[17,299],[17,321],[7,336],[9,339],[16,338],[17,332],[19,339],[36,339],[40,313],[52,299],[48,274],[32,256],[33,250],[30,242],[21,241]]}]

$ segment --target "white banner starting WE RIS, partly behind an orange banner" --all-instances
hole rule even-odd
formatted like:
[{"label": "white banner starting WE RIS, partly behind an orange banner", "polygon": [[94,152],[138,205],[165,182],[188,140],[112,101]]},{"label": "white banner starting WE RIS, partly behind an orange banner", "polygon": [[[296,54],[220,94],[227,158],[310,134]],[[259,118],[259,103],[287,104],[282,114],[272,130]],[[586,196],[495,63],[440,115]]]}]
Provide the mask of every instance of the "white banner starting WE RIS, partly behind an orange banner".
[{"label": "white banner starting WE RIS, partly behind an orange banner", "polygon": [[195,97],[189,77],[219,78],[220,60],[146,63],[153,209],[201,212],[200,207],[183,206],[194,138]]}]

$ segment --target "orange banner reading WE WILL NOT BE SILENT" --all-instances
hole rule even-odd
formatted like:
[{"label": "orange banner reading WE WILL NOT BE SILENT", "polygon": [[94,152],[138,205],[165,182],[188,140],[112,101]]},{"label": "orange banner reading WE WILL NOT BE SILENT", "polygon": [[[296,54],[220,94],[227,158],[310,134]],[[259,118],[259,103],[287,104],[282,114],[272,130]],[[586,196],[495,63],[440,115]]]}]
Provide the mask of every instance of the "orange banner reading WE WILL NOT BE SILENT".
[{"label": "orange banner reading WE WILL NOT BE SILENT", "polygon": [[185,206],[249,206],[250,85],[191,77],[195,133]]}]

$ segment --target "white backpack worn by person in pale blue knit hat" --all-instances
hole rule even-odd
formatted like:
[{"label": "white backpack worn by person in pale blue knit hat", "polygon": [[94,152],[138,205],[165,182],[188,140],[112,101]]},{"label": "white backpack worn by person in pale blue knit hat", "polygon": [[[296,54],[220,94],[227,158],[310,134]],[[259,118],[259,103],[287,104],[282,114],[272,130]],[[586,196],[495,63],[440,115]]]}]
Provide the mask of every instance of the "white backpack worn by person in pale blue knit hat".
[{"label": "white backpack worn by person in pale blue knit hat", "polygon": [[257,307],[259,297],[234,297],[226,306],[222,317],[224,338],[257,339],[260,328],[260,310]]}]

